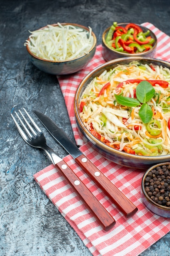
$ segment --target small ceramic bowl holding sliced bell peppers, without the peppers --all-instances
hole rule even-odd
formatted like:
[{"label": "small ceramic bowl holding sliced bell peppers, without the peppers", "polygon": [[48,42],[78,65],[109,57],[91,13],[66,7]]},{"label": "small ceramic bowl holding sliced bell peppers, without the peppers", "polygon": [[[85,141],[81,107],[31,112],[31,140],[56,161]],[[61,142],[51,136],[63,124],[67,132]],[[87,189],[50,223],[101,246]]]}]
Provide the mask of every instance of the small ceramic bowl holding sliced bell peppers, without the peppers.
[{"label": "small ceramic bowl holding sliced bell peppers, without the peppers", "polygon": [[[128,23],[119,23],[118,26],[125,27]],[[137,24],[138,25],[138,24]],[[106,43],[106,37],[108,34],[108,31],[110,27],[108,27],[102,34],[102,56],[105,59],[105,61],[111,61],[116,58],[124,58],[124,57],[145,57],[145,58],[154,58],[155,57],[155,52],[156,52],[156,47],[157,47],[157,37],[155,34],[148,28],[143,27],[141,25],[138,25],[139,27],[142,28],[144,32],[147,30],[150,31],[150,36],[155,39],[153,48],[148,50],[147,52],[142,52],[142,53],[137,53],[137,54],[128,54],[128,53],[123,53],[123,52],[117,52],[116,50],[111,49],[107,43]]]}]

